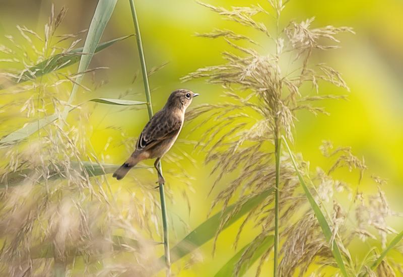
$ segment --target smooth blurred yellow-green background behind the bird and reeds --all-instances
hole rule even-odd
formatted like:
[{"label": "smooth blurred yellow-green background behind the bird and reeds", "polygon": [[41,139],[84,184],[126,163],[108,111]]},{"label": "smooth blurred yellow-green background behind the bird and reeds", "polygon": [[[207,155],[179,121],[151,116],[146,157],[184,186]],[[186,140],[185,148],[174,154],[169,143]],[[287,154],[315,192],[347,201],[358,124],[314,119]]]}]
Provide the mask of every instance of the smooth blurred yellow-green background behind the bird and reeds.
[{"label": "smooth blurred yellow-green background behind the bird and reeds", "polygon": [[[265,1],[253,1],[263,7]],[[43,25],[50,13],[51,3],[58,11],[63,5],[69,9],[60,26],[59,32],[76,33],[88,28],[97,1],[95,0],[13,0],[0,1],[0,42],[4,35],[18,35],[16,25],[27,26],[38,33],[43,33]],[[206,1],[215,6],[247,6],[251,1],[216,0]],[[150,77],[153,90],[154,110],[159,110],[171,91],[177,88],[189,88],[200,94],[193,105],[221,101],[222,89],[205,83],[203,80],[181,83],[180,77],[199,67],[215,65],[223,62],[221,52],[229,46],[223,40],[211,40],[196,37],[196,32],[209,32],[214,28],[231,28],[244,31],[242,27],[224,21],[215,13],[198,5],[194,1],[174,0],[140,0],[136,1],[137,11],[142,31],[148,67],[168,64]],[[308,112],[297,114],[298,122],[295,129],[295,151],[302,153],[305,160],[310,161],[311,168],[316,166],[328,167],[329,161],[323,158],[319,151],[322,140],[330,140],[335,146],[351,146],[358,157],[365,157],[369,171],[388,180],[383,189],[391,205],[391,209],[403,213],[401,198],[403,196],[403,2],[400,0],[386,1],[291,1],[282,17],[284,22],[296,20],[300,22],[315,17],[313,26],[350,26],[356,35],[343,34],[341,48],[315,54],[315,60],[325,60],[343,74],[351,91],[333,87],[321,86],[321,92],[328,94],[346,94],[348,100],[326,100],[322,105],[330,116],[314,116]],[[267,26],[273,24],[267,21]],[[238,29],[237,29],[238,28]],[[101,41],[106,41],[134,32],[128,1],[120,0],[112,15]],[[5,62],[1,68],[7,68]],[[75,65],[77,66],[77,65]],[[79,99],[89,99],[92,96],[113,98],[119,93],[129,90],[131,100],[144,98],[141,80],[132,84],[133,76],[140,72],[140,63],[135,38],[131,37],[96,54],[90,67],[107,66],[108,70],[97,73],[96,79],[107,81],[99,89],[88,93],[80,92]],[[75,72],[76,67],[69,70]],[[141,79],[141,78],[138,78]],[[86,78],[84,83],[90,82]],[[129,99],[127,98],[127,99]],[[111,124],[118,124],[130,135],[137,136],[147,122],[146,110],[130,110],[118,113],[115,107],[98,106],[90,117],[94,126],[90,140],[105,162],[119,164],[128,155],[127,150],[119,142],[120,135],[106,129]],[[3,113],[1,116],[8,116]],[[15,129],[19,126],[14,126]],[[204,128],[189,133],[194,125],[185,126],[179,138],[197,140]],[[12,126],[7,126],[7,132]],[[0,127],[2,133],[6,130]],[[3,135],[3,134],[2,134]],[[110,146],[104,149],[106,142]],[[173,221],[171,243],[185,236],[183,222],[194,229],[206,220],[210,203],[215,195],[225,186],[225,182],[208,196],[213,183],[213,177],[208,177],[211,165],[203,163],[204,154],[193,152],[191,145],[179,144],[172,152],[181,155],[185,151],[196,161],[186,161],[172,165],[163,162],[166,170],[183,167],[192,176],[190,180],[193,189],[189,192],[191,210],[181,195],[183,185],[174,177],[167,178],[167,185],[172,192],[168,203],[169,215]],[[151,162],[150,162],[151,164]],[[358,173],[357,173],[358,174]],[[352,182],[358,177],[353,176]],[[356,179],[354,179],[356,178]],[[124,182],[110,181],[114,189],[127,186]],[[131,186],[131,189],[135,190]],[[365,188],[364,188],[365,189]],[[158,193],[157,190],[153,193]],[[396,230],[403,228],[403,223],[390,223]],[[223,232],[218,241],[216,255],[213,257],[212,243],[204,245],[201,250],[203,260],[189,269],[182,270],[180,276],[210,276],[234,254],[232,242],[239,225],[235,224]],[[249,232],[249,233],[248,233]],[[253,230],[241,237],[240,246],[247,243]],[[356,249],[360,252],[359,249]],[[268,270],[270,264],[263,269]],[[201,273],[202,272],[202,273]],[[252,276],[253,270],[248,272]]]}]

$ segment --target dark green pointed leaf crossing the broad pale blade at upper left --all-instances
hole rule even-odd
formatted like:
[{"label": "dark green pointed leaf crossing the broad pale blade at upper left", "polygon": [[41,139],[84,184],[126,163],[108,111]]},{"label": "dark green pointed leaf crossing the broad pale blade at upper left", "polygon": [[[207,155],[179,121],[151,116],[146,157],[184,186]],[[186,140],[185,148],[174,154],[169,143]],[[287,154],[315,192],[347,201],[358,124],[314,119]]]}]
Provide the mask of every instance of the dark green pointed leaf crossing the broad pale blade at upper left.
[{"label": "dark green pointed leaf crossing the broad pale blade at upper left", "polygon": [[[100,43],[97,45],[95,48],[94,53],[97,53],[112,44],[121,41],[123,39],[126,39],[132,35],[124,36],[124,37],[119,37],[115,38],[103,43]],[[20,80],[16,80],[16,83],[23,83],[38,77],[41,77],[43,75],[46,75],[48,73],[60,70],[61,68],[70,66],[72,64],[77,63],[80,60],[81,55],[85,55],[84,47],[76,48],[73,49],[69,52],[62,53],[62,54],[56,54],[32,67],[29,68],[28,71],[24,72]]]}]

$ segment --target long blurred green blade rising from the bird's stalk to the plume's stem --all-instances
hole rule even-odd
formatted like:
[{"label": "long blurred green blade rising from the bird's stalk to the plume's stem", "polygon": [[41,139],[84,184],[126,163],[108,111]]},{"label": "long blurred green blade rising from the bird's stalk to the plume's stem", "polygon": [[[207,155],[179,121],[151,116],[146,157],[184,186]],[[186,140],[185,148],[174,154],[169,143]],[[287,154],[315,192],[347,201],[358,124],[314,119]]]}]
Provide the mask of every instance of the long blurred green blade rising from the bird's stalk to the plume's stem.
[{"label": "long blurred green blade rising from the bird's stalk to the plume's stem", "polygon": [[[273,192],[274,188],[270,188],[247,200],[239,209],[239,211],[228,220],[228,222],[224,225],[223,230],[235,223],[242,216],[250,212],[256,205],[261,203],[267,196],[269,196]],[[196,227],[196,229],[190,232],[184,239],[182,239],[178,244],[171,248],[170,252],[172,253],[172,262],[179,260],[180,258],[192,252],[194,249],[213,239],[220,226],[222,217],[230,214],[235,209],[235,207],[236,205],[234,204],[230,205],[227,207],[224,214],[223,212],[215,214],[204,223]],[[160,259],[163,262],[164,257],[161,257]],[[158,267],[156,269],[158,271],[162,268]]]}]

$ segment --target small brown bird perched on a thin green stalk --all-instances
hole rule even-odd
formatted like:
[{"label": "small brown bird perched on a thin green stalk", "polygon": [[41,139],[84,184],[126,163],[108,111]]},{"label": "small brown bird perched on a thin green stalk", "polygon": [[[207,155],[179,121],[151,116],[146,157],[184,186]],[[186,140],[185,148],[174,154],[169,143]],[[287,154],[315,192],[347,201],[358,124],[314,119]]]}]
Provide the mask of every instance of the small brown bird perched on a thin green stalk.
[{"label": "small brown bird perched on a thin green stalk", "polygon": [[164,177],[157,167],[158,162],[175,143],[182,129],[186,108],[192,102],[193,97],[197,95],[197,93],[185,89],[172,92],[165,106],[154,114],[144,127],[136,143],[135,152],[112,176],[120,180],[137,163],[146,159],[157,158],[154,167],[157,169],[158,183],[164,184]]}]

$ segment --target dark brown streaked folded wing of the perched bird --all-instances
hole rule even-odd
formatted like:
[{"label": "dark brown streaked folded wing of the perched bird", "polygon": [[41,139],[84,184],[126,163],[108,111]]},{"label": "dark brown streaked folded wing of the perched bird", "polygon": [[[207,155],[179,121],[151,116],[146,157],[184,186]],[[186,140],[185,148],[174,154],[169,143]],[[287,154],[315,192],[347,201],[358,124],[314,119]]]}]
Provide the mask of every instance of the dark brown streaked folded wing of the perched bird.
[{"label": "dark brown streaked folded wing of the perched bird", "polygon": [[182,126],[182,120],[156,113],[144,127],[136,144],[137,150],[147,150],[167,138],[175,136]]}]

